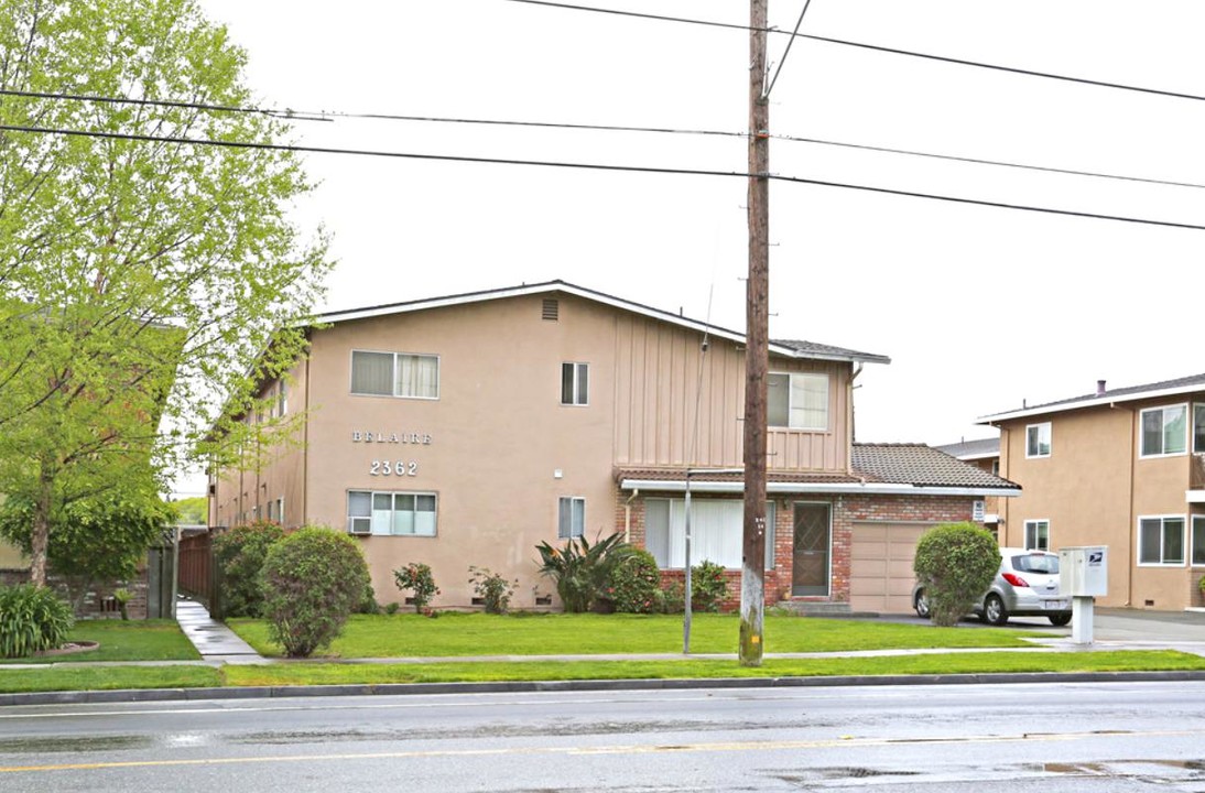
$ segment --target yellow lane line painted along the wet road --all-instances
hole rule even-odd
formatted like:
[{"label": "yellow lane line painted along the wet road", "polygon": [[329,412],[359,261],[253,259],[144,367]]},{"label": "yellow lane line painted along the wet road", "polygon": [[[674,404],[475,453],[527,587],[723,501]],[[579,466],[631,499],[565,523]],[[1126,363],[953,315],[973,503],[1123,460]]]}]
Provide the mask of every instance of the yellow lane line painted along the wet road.
[{"label": "yellow lane line painted along the wet road", "polygon": [[299,763],[330,760],[382,760],[402,758],[431,757],[496,757],[502,754],[653,754],[662,752],[765,752],[799,751],[847,747],[898,746],[901,744],[1015,744],[1030,741],[1075,741],[1100,738],[1153,738],[1153,736],[1197,736],[1198,730],[1151,730],[1151,732],[1110,732],[1110,733],[1040,733],[1021,735],[970,735],[953,738],[837,738],[809,741],[729,741],[713,744],[663,744],[663,745],[613,745],[613,746],[533,746],[516,748],[465,748],[465,750],[413,750],[402,752],[357,752],[340,754],[288,754],[268,757],[213,757],[196,759],[169,760],[111,760],[105,763],[57,763],[45,765],[7,765],[0,766],[0,774],[34,774],[49,771],[92,771],[105,769],[131,768],[171,768],[198,765],[239,765],[249,763]]}]

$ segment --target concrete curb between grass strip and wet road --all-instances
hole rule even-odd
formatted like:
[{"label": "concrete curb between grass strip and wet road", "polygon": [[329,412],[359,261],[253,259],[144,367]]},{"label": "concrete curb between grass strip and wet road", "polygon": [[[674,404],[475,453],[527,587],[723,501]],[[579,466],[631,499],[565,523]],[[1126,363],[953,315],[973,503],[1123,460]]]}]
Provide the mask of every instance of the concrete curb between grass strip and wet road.
[{"label": "concrete curb between grass strip and wet road", "polygon": [[1203,670],[1121,672],[995,672],[965,675],[874,675],[834,677],[713,677],[669,680],[548,680],[478,683],[381,683],[345,686],[247,686],[222,688],[131,688],[116,691],[0,694],[0,707],[96,703],[286,699],[298,697],[399,697],[419,694],[511,694],[578,691],[686,691],[695,688],[836,688],[853,686],[969,686],[1086,682],[1205,681]]}]

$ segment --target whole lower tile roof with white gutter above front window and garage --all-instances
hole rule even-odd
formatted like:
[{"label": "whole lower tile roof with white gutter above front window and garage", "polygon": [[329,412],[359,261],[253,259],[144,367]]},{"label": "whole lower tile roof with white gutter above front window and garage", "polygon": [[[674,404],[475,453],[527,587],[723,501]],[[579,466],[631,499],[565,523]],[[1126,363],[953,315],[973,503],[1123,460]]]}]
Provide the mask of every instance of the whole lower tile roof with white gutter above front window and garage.
[{"label": "whole lower tile roof with white gutter above front window and garage", "polygon": [[[874,493],[889,495],[1019,495],[1021,486],[993,476],[924,444],[854,444],[850,474],[766,471],[768,493]],[[686,489],[682,468],[621,468],[625,491]],[[692,469],[690,489],[699,493],[740,493],[743,470]]]}]

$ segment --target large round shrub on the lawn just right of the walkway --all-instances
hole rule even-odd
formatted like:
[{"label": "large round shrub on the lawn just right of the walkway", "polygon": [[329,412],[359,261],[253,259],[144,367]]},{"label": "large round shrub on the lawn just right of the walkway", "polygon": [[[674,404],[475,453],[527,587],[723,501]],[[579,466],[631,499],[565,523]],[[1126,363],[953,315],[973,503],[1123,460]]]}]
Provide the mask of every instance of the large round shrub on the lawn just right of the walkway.
[{"label": "large round shrub on the lawn just right of the walkway", "polygon": [[325,647],[364,599],[370,583],[359,544],[324,525],[307,525],[268,551],[264,616],[269,636],[290,658]]}]

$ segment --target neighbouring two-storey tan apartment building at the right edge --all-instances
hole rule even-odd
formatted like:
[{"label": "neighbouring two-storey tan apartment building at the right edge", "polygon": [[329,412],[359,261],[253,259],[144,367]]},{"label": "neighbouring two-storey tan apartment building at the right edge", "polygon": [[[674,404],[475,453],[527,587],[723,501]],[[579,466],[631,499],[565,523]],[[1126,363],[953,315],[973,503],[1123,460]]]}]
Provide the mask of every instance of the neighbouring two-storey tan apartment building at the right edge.
[{"label": "neighbouring two-storey tan apartment building at the right edge", "polygon": [[1095,392],[987,416],[1000,475],[1024,488],[1001,545],[1109,546],[1106,606],[1201,606],[1205,375]]}]

